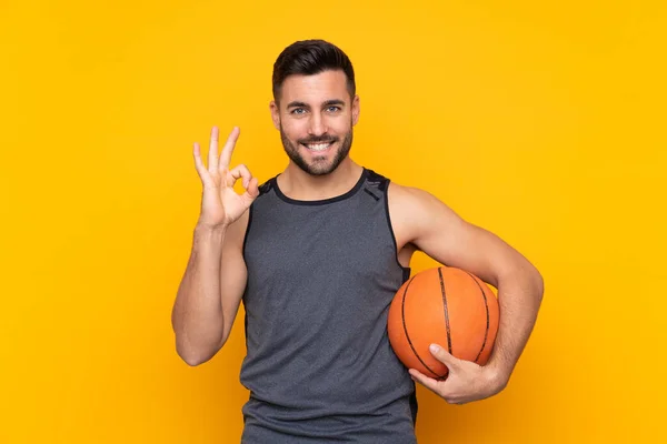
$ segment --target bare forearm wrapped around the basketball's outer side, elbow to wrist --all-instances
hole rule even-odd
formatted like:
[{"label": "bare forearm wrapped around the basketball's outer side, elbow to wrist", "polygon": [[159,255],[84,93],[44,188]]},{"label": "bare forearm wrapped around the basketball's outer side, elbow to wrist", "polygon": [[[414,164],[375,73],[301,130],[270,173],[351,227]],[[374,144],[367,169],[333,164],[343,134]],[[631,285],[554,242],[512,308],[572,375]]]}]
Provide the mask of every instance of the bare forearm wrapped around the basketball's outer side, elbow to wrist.
[{"label": "bare forearm wrapped around the basketball's outer side, elbow to wrist", "polygon": [[487,363],[499,383],[507,384],[532,332],[544,284],[536,270],[511,273],[498,281],[500,321],[494,352]]}]

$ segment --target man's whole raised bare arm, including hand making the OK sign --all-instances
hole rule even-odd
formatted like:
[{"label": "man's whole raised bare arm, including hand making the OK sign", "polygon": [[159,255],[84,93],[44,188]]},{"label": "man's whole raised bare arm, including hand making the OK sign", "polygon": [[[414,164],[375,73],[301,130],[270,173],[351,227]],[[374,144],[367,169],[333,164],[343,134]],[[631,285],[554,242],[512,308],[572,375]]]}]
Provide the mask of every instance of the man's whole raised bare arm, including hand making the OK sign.
[{"label": "man's whole raised bare arm, including hand making the OK sign", "polygon": [[[171,312],[176,350],[189,365],[210,360],[222,347],[246,287],[242,240],[248,209],[259,191],[257,179],[245,165],[229,169],[238,134],[235,129],[218,159],[218,129],[213,128],[208,169],[195,144],[195,162],[203,184],[201,214]],[[233,190],[238,179],[246,189],[241,195]]]}]

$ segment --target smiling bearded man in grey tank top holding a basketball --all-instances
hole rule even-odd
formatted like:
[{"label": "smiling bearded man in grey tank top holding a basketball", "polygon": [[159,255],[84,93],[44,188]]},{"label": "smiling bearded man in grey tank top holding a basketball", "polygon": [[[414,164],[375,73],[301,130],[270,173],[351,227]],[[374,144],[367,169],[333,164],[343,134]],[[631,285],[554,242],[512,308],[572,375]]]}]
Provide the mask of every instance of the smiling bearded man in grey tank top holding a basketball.
[{"label": "smiling bearded man in grey tank top holding a basketball", "polygon": [[[259,186],[246,165],[231,167],[238,128],[220,155],[213,128],[208,167],[195,144],[203,194],[173,306],[176,346],[190,365],[210,360],[243,301],[243,443],[415,443],[414,381],[455,404],[500,392],[537,317],[542,281],[521,254],[428,192],[352,161],[359,109],[347,56],[300,41],[273,67],[271,118],[290,159],[282,173]],[[387,311],[417,250],[498,289],[487,365],[435,344],[449,367],[435,381],[394,354]]]}]

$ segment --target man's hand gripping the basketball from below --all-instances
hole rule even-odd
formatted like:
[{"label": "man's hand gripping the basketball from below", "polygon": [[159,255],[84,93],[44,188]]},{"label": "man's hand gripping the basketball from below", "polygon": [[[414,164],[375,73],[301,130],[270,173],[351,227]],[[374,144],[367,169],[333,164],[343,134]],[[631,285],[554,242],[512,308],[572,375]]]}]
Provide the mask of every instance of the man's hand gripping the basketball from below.
[{"label": "man's hand gripping the basketball from below", "polygon": [[447,379],[445,381],[434,380],[415,369],[410,369],[409,373],[412,380],[445,398],[449,404],[460,405],[484,400],[505,389],[506,379],[499,377],[491,367],[459,360],[447,353],[441,346],[434,345],[430,347],[431,354],[447,365],[449,370]]}]

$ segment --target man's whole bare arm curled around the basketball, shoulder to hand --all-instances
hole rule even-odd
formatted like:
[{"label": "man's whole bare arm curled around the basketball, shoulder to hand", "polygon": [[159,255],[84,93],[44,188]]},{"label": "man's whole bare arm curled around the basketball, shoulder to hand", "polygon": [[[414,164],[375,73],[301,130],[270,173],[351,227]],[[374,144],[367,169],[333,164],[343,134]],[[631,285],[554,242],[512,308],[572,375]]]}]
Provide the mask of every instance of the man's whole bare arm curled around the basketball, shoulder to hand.
[{"label": "man's whole bare arm curled around the basketball, shoulder to hand", "polygon": [[517,250],[465,221],[430,193],[401,188],[395,196],[402,204],[401,213],[409,214],[409,241],[434,260],[494,285],[500,307],[498,334],[486,365],[458,360],[437,347],[431,353],[448,366],[447,380],[436,381],[415,370],[410,374],[449,403],[492,396],[509,382],[528,342],[542,299],[542,278]]}]

